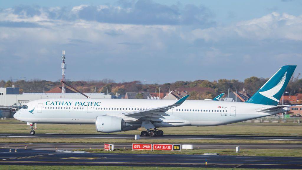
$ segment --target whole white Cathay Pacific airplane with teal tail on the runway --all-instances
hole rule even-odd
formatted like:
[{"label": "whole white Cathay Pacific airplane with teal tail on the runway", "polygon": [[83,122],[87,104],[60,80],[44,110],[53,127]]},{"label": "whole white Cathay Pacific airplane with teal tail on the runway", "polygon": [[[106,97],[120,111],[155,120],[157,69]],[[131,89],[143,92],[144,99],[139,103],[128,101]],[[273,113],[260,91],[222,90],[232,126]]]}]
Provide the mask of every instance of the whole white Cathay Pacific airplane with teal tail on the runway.
[{"label": "whole white Cathay Pacific airplane with teal tail on the runway", "polygon": [[[14,118],[34,123],[95,124],[98,132],[121,132],[144,127],[141,136],[162,136],[161,127],[218,126],[271,116],[289,111],[292,105],[277,106],[297,66],[281,67],[248,101],[141,99],[34,100],[24,105]],[[64,126],[62,126],[64,128]]]}]

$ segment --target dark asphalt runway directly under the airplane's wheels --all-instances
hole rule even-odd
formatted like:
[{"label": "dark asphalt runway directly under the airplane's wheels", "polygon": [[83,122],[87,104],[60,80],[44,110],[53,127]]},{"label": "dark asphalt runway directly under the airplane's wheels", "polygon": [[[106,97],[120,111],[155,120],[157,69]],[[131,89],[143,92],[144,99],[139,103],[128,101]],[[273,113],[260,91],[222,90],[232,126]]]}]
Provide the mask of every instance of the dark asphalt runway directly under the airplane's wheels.
[{"label": "dark asphalt runway directly under the airplane's wheels", "polygon": [[[1,133],[0,138],[105,138],[105,139],[134,139],[133,135],[116,134],[39,134],[35,135],[24,133]],[[145,136],[141,139],[241,139],[241,140],[292,140],[302,141],[302,136],[238,136],[238,135],[163,135]]]}]

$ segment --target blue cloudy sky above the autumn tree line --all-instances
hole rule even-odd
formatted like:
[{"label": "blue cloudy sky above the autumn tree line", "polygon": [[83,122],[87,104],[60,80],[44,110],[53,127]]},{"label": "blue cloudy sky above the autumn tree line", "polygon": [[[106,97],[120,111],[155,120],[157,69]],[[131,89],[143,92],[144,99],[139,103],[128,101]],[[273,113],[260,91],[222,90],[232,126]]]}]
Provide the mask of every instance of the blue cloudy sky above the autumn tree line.
[{"label": "blue cloudy sky above the autumn tree line", "polygon": [[299,0],[0,1],[0,80],[167,83],[302,73]]}]

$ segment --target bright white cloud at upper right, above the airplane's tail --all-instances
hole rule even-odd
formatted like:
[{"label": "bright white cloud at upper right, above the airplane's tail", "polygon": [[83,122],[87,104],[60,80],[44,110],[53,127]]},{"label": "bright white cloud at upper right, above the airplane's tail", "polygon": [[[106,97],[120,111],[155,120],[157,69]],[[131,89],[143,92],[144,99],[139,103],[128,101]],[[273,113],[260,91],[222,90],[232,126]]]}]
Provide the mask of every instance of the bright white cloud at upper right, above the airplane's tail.
[{"label": "bright white cloud at upper right, above the airplane's tail", "polygon": [[194,38],[202,38],[205,41],[219,41],[224,38],[302,40],[301,28],[302,16],[272,12],[261,18],[241,21],[226,27],[194,29],[192,34]]}]

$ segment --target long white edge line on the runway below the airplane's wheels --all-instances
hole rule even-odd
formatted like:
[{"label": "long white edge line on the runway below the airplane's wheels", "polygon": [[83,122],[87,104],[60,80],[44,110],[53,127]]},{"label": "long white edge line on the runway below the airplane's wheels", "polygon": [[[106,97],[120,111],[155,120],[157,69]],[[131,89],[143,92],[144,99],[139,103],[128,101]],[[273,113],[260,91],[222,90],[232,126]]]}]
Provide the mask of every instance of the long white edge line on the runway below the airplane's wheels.
[{"label": "long white edge line on the runway below the airplane's wheels", "polygon": [[[127,138],[134,139],[133,137],[76,137],[76,136],[6,136],[6,137],[14,137],[14,138]],[[233,138],[141,138],[141,139],[233,139]],[[257,138],[238,138],[241,140],[302,140],[302,139],[257,139]]]}]

